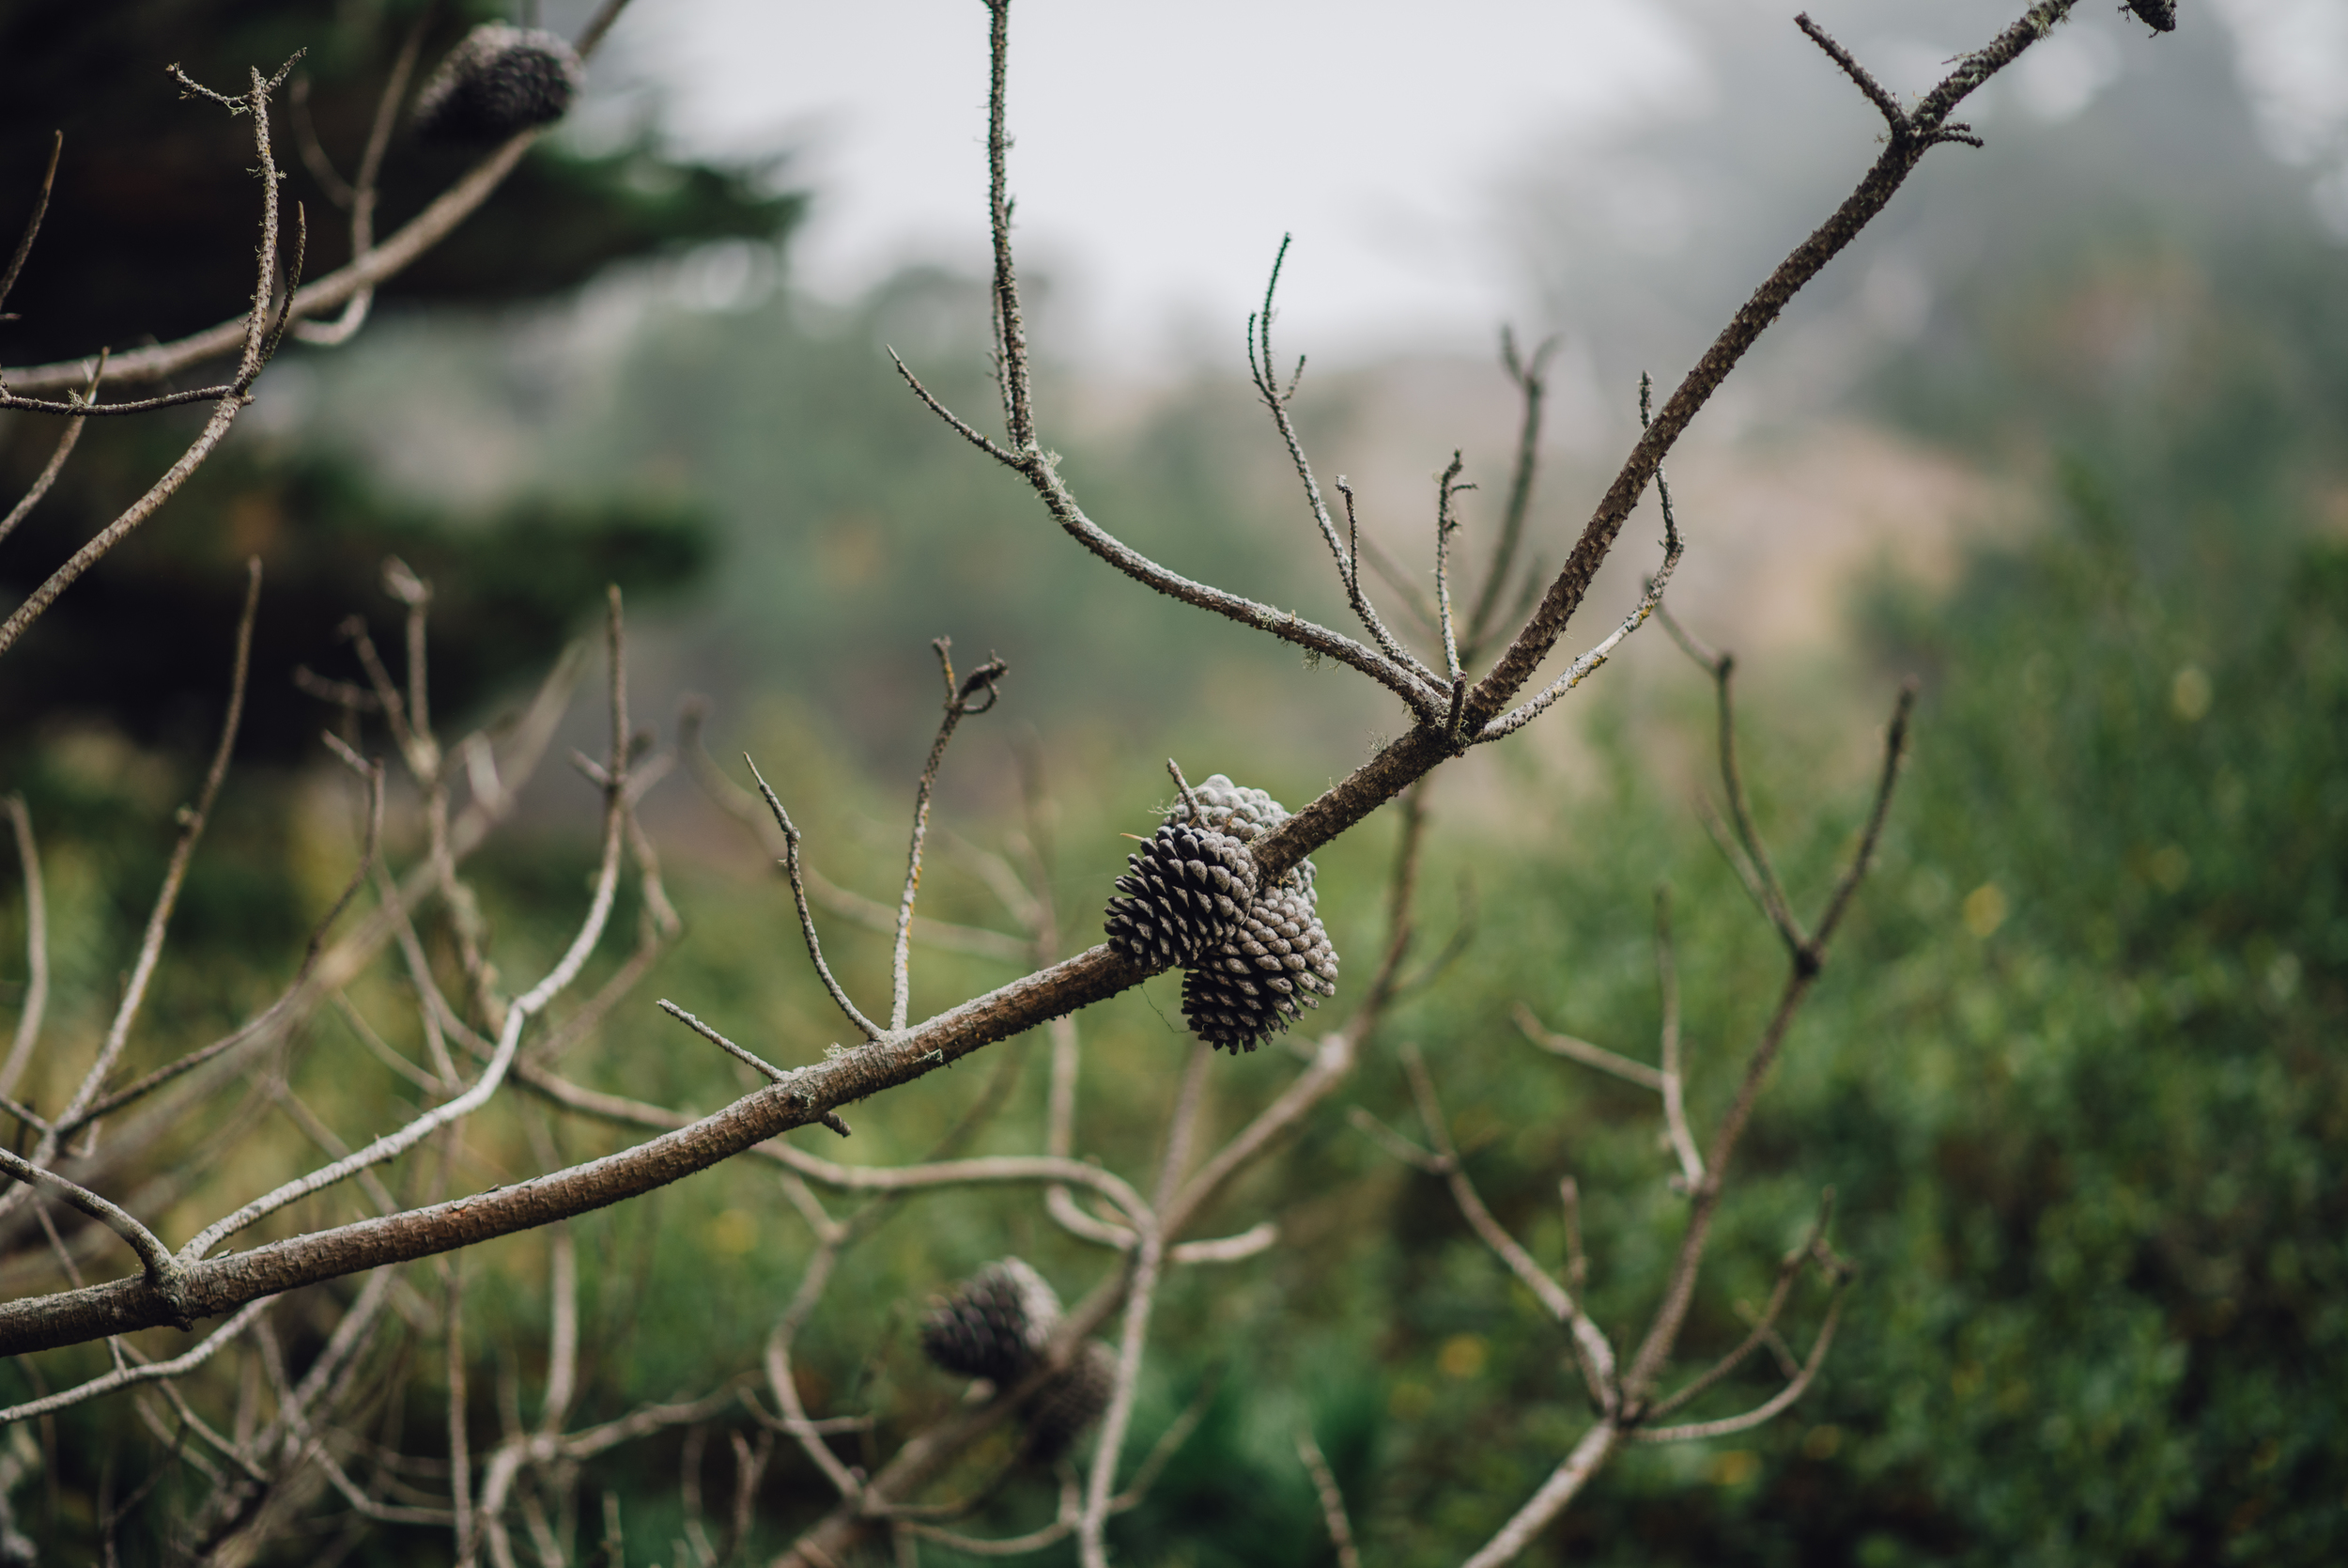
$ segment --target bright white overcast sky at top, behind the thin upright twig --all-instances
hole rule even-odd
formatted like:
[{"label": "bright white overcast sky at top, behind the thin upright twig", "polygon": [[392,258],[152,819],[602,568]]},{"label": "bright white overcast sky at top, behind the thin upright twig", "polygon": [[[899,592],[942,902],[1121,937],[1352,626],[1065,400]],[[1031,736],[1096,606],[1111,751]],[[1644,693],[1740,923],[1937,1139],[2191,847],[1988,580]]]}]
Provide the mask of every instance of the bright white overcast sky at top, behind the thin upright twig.
[{"label": "bright white overcast sky at top, behind the thin upright twig", "polygon": [[[798,148],[794,270],[845,296],[913,258],[984,268],[977,0],[641,0],[613,61],[690,153]],[[1484,352],[1522,312],[1489,228],[1512,150],[1702,92],[1644,0],[1021,0],[1012,195],[1080,338],[1235,345],[1280,235],[1289,347]]]}]

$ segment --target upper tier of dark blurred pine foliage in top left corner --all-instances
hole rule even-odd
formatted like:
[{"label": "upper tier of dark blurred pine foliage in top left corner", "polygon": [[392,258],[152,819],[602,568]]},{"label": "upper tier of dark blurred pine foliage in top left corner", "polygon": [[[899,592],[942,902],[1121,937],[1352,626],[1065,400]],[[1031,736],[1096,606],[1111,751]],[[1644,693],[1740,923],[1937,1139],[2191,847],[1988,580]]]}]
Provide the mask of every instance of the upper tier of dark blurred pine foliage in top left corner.
[{"label": "upper tier of dark blurred pine foliage in top left corner", "polygon": [[[155,5],[9,7],[0,19],[0,218],[14,244],[49,160],[63,157],[40,244],[9,307],[9,364],[171,340],[251,305],[261,218],[251,124],[216,103],[190,103],[164,68],[244,92],[247,70],[275,70],[303,49],[308,103],[279,96],[272,127],[284,197],[308,211],[308,275],[350,258],[336,188],[301,155],[301,127],[340,181],[357,174],[392,59],[423,5],[329,0],[195,0]],[[505,7],[441,5],[427,21],[420,82],[432,63]],[[448,188],[474,150],[418,143],[402,113],[383,167],[376,237]],[[456,235],[404,270],[383,298],[498,305],[571,289],[608,263],[711,239],[784,237],[805,202],[768,190],[763,171],[679,162],[648,146],[585,153],[559,138],[535,148]],[[289,214],[291,221],[291,214]],[[169,265],[157,265],[169,258]]]}]

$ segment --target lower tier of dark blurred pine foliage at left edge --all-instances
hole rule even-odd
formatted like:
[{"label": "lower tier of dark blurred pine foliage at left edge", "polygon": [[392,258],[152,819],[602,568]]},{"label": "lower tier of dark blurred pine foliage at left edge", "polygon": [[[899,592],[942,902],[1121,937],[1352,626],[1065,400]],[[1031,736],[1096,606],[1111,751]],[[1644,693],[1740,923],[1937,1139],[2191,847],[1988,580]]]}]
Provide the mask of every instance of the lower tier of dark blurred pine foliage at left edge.
[{"label": "lower tier of dark blurred pine foliage at left edge", "polygon": [[[47,432],[40,432],[47,434]],[[183,430],[127,425],[106,441],[120,465],[75,465],[9,540],[0,582],[31,592],[178,453]],[[87,446],[85,446],[87,453]],[[47,458],[19,441],[0,474],[23,481]],[[141,742],[195,751],[216,732],[244,601],[244,561],[263,566],[254,681],[239,756],[289,763],[317,749],[333,709],[296,690],[308,664],[366,683],[343,624],[362,617],[394,678],[404,674],[402,606],[385,556],[434,584],[432,704],[448,721],[533,678],[620,582],[657,603],[714,554],[707,514],[662,495],[526,493],[472,514],[397,498],[324,444],[237,444],[174,498],[162,528],[124,540],[59,599],[0,685],[7,744],[47,725],[99,721]]]}]

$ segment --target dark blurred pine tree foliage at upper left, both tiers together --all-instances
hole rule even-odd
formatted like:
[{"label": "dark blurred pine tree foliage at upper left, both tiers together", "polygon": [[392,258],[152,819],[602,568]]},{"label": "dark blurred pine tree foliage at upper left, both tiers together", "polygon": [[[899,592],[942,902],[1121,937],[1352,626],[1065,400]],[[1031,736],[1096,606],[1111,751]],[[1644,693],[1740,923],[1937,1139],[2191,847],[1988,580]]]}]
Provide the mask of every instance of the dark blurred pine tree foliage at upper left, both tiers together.
[{"label": "dark blurred pine tree foliage at upper left, both tiers together", "polygon": [[[0,230],[14,244],[52,131],[63,155],[40,242],[0,322],[0,361],[35,364],[101,345],[171,340],[237,317],[251,298],[258,183],[251,127],[183,99],[167,66],[237,92],[251,66],[303,49],[305,106],[275,103],[286,202],[308,209],[308,277],[350,258],[345,211],[305,164],[308,115],[350,178],[392,61],[427,7],[409,0],[110,0],[0,7]],[[439,5],[409,99],[484,19]],[[571,26],[578,26],[575,21]],[[592,66],[589,66],[592,70]],[[378,239],[463,176],[479,148],[418,138],[402,108],[383,169]],[[714,239],[772,242],[803,200],[758,171],[664,160],[648,146],[578,155],[540,143],[446,242],[392,279],[378,317],[402,307],[495,307],[561,293],[601,268]],[[289,239],[291,246],[291,239]],[[282,364],[305,352],[289,345]],[[340,352],[364,352],[357,350]],[[204,371],[181,385],[200,385]],[[129,397],[131,390],[117,392]],[[0,545],[0,594],[28,594],[185,446],[202,408],[94,423],[56,491]],[[14,502],[47,460],[56,425],[0,432],[0,493]],[[239,427],[190,486],[77,582],[16,650],[0,683],[0,737],[28,721],[103,714],[139,739],[202,744],[218,671],[174,655],[209,648],[235,622],[244,556],[268,575],[247,756],[315,749],[322,709],[291,685],[296,664],[359,669],[338,624],[364,613],[399,669],[399,606],[378,587],[399,554],[434,582],[434,707],[460,718],[542,667],[606,582],[636,594],[690,580],[711,554],[700,512],[618,488],[594,502],[521,500],[446,516],[385,495],[357,460],[286,448]],[[5,505],[5,502],[0,502]]]}]

